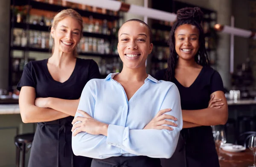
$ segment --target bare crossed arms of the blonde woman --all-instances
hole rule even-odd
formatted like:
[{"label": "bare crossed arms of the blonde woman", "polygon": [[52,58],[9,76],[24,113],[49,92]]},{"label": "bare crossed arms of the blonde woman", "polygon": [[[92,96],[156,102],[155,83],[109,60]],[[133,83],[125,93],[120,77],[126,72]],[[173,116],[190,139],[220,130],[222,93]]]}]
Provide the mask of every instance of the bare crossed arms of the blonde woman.
[{"label": "bare crossed arms of the blonde woman", "polygon": [[19,107],[24,123],[47,122],[67,116],[75,116],[79,99],[35,99],[35,88],[23,86],[20,90]]}]

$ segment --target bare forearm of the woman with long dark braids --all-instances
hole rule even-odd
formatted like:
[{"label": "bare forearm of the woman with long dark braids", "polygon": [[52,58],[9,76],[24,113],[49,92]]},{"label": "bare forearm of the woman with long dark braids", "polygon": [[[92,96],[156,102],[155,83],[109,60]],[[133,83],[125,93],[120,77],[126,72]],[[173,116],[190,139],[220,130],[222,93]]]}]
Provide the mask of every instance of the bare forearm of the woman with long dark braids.
[{"label": "bare forearm of the woman with long dark braids", "polygon": [[227,107],[182,110],[183,121],[203,126],[224,125],[227,122]]}]

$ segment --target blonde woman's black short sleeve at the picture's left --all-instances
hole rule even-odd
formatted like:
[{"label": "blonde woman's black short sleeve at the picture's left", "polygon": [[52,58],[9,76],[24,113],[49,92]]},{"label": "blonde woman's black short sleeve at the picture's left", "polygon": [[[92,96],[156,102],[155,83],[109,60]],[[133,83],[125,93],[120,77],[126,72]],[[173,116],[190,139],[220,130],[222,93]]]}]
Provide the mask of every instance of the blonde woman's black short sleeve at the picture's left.
[{"label": "blonde woman's black short sleeve at the picture's left", "polygon": [[17,90],[20,91],[21,87],[23,86],[31,86],[33,88],[36,87],[36,79],[32,62],[25,65],[20,81],[17,84]]}]

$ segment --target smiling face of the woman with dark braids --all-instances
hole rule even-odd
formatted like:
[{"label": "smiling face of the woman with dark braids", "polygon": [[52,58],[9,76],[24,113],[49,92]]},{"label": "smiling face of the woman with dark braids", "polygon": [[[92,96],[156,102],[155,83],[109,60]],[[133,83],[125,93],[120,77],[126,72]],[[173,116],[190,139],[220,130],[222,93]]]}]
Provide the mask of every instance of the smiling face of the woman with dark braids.
[{"label": "smiling face of the woman with dark braids", "polygon": [[183,24],[175,30],[175,50],[179,58],[194,60],[199,49],[199,31],[195,25]]}]

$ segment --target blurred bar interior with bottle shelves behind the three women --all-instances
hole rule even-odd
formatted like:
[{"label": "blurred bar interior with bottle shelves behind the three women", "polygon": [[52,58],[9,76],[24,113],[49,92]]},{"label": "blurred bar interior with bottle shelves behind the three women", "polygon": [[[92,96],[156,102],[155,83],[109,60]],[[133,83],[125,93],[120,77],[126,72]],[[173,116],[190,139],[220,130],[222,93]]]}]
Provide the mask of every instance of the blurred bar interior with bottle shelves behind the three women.
[{"label": "blurred bar interior with bottle shelves behind the three women", "polygon": [[[241,133],[256,131],[256,40],[219,33],[215,24],[256,32],[256,0],[119,0],[176,13],[184,7],[198,6],[204,12],[205,46],[212,68],[222,77],[229,103],[229,120],[224,126],[227,142],[235,143]],[[47,59],[53,44],[49,37],[52,19],[58,11],[73,8],[84,20],[79,57],[94,59],[102,78],[120,72],[117,32],[126,20],[144,20],[153,31],[153,52],[147,59],[147,72],[167,68],[167,40],[173,22],[154,20],[141,15],[70,3],[65,0],[0,1],[0,167],[14,167],[14,136],[34,132],[34,124],[23,124],[18,109],[16,85],[26,63]],[[230,49],[231,48],[231,49]],[[232,49],[233,48],[233,49]],[[231,54],[234,53],[234,54]],[[231,60],[231,61],[230,61]],[[230,68],[231,67],[231,68]],[[26,162],[29,158],[29,151]]]}]

